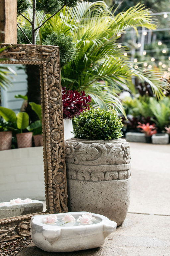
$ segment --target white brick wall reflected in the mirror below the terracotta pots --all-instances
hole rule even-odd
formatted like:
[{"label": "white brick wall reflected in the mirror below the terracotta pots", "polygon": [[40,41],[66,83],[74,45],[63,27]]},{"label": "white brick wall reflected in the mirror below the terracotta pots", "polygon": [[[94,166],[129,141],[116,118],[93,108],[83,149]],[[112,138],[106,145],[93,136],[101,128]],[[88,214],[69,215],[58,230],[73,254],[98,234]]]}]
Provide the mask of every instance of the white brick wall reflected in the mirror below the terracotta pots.
[{"label": "white brick wall reflected in the mirror below the terracotta pots", "polygon": [[0,202],[45,200],[43,147],[0,151]]}]

